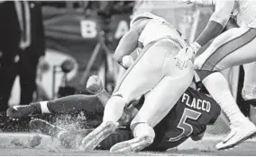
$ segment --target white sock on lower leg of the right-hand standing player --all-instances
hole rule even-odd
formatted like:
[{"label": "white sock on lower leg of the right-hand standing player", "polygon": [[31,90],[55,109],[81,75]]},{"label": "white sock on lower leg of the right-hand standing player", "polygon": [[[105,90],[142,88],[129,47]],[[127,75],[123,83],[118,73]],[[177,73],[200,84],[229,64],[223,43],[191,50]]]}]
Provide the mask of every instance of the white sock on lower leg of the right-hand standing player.
[{"label": "white sock on lower leg of the right-hand standing player", "polygon": [[235,125],[235,122],[244,121],[245,117],[238,108],[223,74],[210,74],[203,80],[203,83],[208,92],[210,92],[214,100],[221,106],[224,113],[230,119],[232,125]]}]

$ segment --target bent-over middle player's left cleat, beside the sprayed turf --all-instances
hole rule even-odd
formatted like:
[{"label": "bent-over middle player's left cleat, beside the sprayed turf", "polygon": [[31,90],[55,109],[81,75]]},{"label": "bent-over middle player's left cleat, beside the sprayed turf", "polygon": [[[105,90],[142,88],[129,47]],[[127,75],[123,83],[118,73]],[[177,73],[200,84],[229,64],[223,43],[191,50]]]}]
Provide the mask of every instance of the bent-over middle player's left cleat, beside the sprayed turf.
[{"label": "bent-over middle player's left cleat, beside the sprayed turf", "polygon": [[92,151],[100,144],[108,135],[112,134],[117,128],[118,123],[111,121],[102,123],[100,126],[97,126],[94,131],[87,135],[81,144],[80,149],[82,151]]}]

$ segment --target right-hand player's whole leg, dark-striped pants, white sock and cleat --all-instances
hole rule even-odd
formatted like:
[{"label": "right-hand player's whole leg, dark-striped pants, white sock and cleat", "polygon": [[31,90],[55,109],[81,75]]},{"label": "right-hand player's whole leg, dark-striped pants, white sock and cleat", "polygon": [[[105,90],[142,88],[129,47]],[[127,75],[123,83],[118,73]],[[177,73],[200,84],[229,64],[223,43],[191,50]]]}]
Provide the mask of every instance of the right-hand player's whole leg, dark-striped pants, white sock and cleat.
[{"label": "right-hand player's whole leg, dark-striped pants, white sock and cleat", "polygon": [[[200,67],[198,74],[201,76],[206,89],[220,104],[231,121],[232,138],[225,139],[217,144],[217,149],[226,149],[240,144],[256,132],[256,127],[248,118],[242,115],[236,101],[230,92],[224,76],[209,71],[221,71],[233,65],[242,65],[256,60],[256,30],[231,29],[216,38],[206,52],[197,57],[195,65]],[[238,130],[238,131],[237,131]],[[234,134],[235,131],[235,134]]]}]

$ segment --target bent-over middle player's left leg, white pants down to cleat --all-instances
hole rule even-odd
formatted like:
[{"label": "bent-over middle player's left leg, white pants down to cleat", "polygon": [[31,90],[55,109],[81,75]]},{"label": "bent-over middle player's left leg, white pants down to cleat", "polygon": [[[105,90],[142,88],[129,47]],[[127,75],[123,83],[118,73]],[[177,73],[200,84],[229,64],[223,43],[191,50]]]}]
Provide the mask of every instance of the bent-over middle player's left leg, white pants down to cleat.
[{"label": "bent-over middle player's left leg, white pants down to cleat", "polygon": [[107,101],[103,123],[83,140],[84,149],[94,149],[100,141],[110,135],[118,126],[116,122],[123,115],[125,105],[150,92],[160,82],[164,76],[164,62],[173,48],[176,47],[171,40],[162,39],[143,49],[134,65],[123,75],[123,80],[117,84],[113,96]]}]

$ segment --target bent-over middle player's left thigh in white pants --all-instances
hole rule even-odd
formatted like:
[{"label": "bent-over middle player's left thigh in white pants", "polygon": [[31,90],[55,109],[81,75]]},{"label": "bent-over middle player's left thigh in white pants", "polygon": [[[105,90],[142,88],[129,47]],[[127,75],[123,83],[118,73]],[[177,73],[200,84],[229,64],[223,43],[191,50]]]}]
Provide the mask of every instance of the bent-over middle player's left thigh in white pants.
[{"label": "bent-over middle player's left thigh in white pants", "polygon": [[114,95],[122,95],[125,100],[131,101],[151,91],[163,77],[164,61],[173,47],[168,39],[162,39],[142,52],[117,84]]}]

